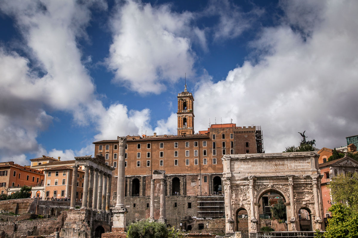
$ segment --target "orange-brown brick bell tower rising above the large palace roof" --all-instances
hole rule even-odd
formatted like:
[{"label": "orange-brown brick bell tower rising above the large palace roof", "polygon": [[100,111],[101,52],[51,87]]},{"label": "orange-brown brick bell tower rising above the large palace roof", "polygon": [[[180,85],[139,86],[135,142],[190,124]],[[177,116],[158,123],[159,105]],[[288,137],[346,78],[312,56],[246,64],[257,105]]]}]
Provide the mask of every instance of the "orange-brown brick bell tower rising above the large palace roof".
[{"label": "orange-brown brick bell tower rising above the large palace roof", "polygon": [[178,93],[178,135],[194,135],[194,98],[187,91],[185,83],[184,92]]}]

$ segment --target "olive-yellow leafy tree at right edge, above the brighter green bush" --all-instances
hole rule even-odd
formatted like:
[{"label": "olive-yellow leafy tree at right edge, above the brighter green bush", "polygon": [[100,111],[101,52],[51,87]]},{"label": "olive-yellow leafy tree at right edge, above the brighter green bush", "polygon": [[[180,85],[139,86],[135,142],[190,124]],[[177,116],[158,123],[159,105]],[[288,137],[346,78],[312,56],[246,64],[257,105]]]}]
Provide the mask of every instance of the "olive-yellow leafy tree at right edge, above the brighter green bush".
[{"label": "olive-yellow leafy tree at right edge, above the brighter green bush", "polygon": [[328,185],[333,202],[343,202],[352,212],[358,212],[358,173],[339,174]]}]

